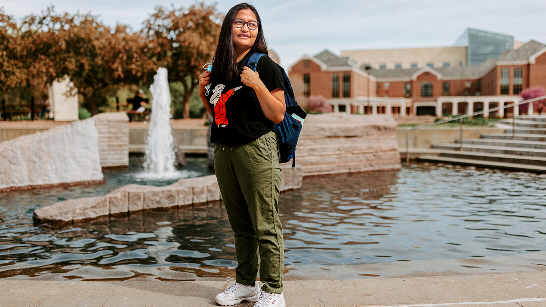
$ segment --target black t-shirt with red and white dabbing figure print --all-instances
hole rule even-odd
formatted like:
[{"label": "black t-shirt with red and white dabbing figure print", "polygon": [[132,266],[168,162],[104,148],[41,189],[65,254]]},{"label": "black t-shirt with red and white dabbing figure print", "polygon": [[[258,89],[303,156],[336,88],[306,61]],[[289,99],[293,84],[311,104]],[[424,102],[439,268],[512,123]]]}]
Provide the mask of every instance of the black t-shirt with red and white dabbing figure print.
[{"label": "black t-shirt with red and white dabbing figure print", "polygon": [[[251,55],[252,52],[248,52],[237,63],[239,71],[234,81],[225,84],[225,81],[212,80],[207,96],[214,117],[211,123],[212,143],[242,145],[273,130],[274,123],[264,115],[256,92],[244,85],[239,76]],[[269,91],[283,87],[281,71],[269,56],[260,58],[256,71]]]}]

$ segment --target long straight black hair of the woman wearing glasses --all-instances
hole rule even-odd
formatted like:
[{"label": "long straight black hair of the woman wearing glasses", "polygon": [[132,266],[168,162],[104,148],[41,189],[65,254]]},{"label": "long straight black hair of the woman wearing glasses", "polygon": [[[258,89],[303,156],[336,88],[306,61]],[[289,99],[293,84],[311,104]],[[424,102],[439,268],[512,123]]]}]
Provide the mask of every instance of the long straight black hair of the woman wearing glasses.
[{"label": "long straight black hair of the woman wearing glasses", "polygon": [[235,15],[242,9],[251,9],[259,22],[258,36],[256,37],[256,42],[254,42],[254,46],[252,46],[252,49],[249,52],[262,52],[269,55],[268,44],[265,42],[264,31],[262,28],[262,19],[260,19],[258,10],[252,4],[248,4],[246,2],[239,3],[231,8],[228,11],[228,14],[225,14],[225,18],[222,23],[222,29],[220,30],[220,35],[218,37],[218,45],[216,46],[216,52],[212,59],[212,78],[215,80],[225,80],[225,82],[230,82],[237,78],[238,68],[235,55],[235,46],[233,45],[232,25]]}]

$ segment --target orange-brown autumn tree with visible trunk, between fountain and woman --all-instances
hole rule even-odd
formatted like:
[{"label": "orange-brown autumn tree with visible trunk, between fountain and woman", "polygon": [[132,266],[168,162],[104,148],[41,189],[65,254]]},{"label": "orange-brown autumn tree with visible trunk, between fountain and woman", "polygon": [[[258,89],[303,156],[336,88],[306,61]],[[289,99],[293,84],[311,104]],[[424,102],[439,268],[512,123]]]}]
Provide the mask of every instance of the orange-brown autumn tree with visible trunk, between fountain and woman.
[{"label": "orange-brown autumn tree with visible trunk, between fountain and woman", "polygon": [[220,30],[220,15],[214,5],[204,3],[189,9],[156,7],[145,21],[143,35],[150,57],[167,68],[170,82],[183,87],[183,117],[189,118],[189,100],[199,86],[203,65],[211,62]]}]

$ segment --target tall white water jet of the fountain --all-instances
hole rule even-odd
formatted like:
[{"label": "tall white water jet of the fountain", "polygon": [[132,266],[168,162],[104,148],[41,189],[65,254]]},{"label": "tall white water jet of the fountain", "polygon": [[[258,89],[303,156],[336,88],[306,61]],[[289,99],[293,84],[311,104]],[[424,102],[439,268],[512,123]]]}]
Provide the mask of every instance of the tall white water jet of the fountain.
[{"label": "tall white water jet of the fountain", "polygon": [[176,172],[175,147],[171,131],[171,97],[167,68],[159,67],[150,86],[152,92],[152,115],[146,141],[146,177],[169,179],[180,177]]}]

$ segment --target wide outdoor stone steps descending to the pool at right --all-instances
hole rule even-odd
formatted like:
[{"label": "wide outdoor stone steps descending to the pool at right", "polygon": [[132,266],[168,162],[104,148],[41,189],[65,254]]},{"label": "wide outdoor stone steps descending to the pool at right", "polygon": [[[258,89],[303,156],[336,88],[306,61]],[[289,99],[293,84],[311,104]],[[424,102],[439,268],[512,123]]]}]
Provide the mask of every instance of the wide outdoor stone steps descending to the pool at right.
[{"label": "wide outdoor stone steps descending to the pool at right", "polygon": [[505,133],[483,134],[479,139],[463,139],[454,144],[432,144],[437,156],[422,155],[418,160],[464,164],[479,167],[546,173],[546,116],[520,116],[500,120],[497,127]]}]

